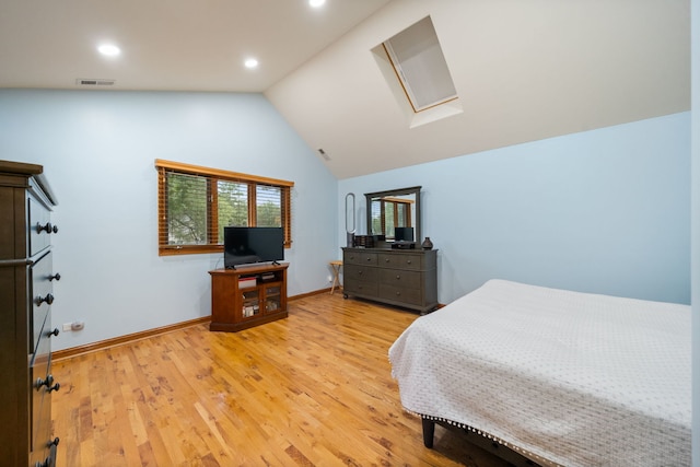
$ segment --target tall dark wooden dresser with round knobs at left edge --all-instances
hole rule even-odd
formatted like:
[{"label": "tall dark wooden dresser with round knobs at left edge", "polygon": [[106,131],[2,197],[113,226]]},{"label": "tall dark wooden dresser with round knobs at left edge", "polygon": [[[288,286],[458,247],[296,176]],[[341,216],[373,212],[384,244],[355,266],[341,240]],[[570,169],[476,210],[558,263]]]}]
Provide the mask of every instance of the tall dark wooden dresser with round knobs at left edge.
[{"label": "tall dark wooden dresser with round knobs at left edge", "polygon": [[0,465],[51,467],[56,198],[40,165],[0,161]]}]

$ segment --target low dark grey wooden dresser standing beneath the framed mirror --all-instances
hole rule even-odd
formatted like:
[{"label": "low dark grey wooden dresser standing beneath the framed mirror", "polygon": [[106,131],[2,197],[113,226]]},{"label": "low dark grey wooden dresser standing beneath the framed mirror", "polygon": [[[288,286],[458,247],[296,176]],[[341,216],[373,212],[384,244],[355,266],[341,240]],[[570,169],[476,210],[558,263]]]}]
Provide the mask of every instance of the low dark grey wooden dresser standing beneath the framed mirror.
[{"label": "low dark grey wooden dresser standing beneath the framed mirror", "polygon": [[342,290],[421,313],[438,306],[438,250],[342,248]]}]

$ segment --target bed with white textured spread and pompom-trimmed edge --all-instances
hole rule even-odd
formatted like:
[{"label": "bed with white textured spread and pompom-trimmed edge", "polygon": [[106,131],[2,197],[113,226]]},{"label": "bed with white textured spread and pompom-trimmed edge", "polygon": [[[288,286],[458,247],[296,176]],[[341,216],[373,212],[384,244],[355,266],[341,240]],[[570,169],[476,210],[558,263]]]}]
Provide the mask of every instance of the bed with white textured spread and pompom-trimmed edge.
[{"label": "bed with white textured spread and pompom-trimmed edge", "polygon": [[490,280],[392,345],[401,405],[546,466],[689,466],[690,306]]}]

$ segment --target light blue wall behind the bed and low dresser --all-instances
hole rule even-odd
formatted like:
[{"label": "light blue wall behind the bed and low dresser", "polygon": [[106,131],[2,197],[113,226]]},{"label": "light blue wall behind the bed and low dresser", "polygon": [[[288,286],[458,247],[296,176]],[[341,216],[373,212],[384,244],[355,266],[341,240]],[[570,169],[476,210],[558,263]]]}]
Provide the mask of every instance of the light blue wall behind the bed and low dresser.
[{"label": "light blue wall behind the bed and low dresser", "polygon": [[415,185],[441,303],[491,278],[690,303],[690,113],[341,180],[338,210],[364,234],[364,192]]}]

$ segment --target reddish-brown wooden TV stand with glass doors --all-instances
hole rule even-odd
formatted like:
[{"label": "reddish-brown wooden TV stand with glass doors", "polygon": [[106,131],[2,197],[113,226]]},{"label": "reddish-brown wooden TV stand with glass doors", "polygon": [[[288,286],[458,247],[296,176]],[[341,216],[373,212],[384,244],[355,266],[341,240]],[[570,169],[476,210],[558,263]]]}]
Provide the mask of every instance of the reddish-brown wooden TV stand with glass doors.
[{"label": "reddish-brown wooden TV stand with glass doors", "polygon": [[237,331],[285,318],[288,264],[215,269],[209,329]]}]

